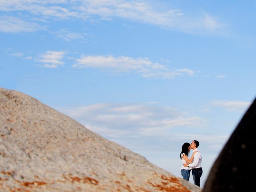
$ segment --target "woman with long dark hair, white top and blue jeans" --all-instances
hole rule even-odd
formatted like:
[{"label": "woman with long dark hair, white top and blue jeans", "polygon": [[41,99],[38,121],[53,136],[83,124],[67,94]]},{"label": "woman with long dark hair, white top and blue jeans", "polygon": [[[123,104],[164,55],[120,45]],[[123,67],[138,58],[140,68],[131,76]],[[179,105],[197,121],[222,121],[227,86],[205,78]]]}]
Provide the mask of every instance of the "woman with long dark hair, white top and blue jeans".
[{"label": "woman with long dark hair, white top and blue jeans", "polygon": [[187,181],[189,180],[189,176],[190,176],[190,171],[191,171],[191,167],[184,167],[183,164],[187,163],[190,164],[193,159],[194,159],[194,154],[198,151],[195,151],[191,158],[189,158],[188,153],[190,152],[190,144],[189,143],[184,143],[182,145],[182,149],[181,149],[181,153],[180,153],[180,158],[182,160],[182,166],[180,168],[180,173],[183,177],[183,179],[186,179]]}]

